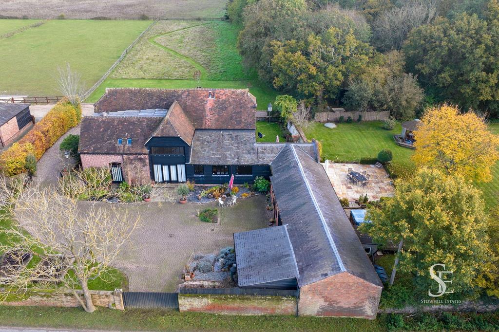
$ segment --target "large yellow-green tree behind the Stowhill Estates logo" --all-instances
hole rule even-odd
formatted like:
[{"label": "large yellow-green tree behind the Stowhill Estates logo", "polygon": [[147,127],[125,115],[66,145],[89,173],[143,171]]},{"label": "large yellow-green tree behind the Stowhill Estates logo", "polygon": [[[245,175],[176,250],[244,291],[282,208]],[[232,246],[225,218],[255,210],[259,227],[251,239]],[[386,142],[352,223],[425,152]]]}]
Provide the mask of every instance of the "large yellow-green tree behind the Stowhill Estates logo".
[{"label": "large yellow-green tree behind the Stowhill Estates logo", "polygon": [[372,224],[361,230],[379,243],[402,241],[398,269],[413,275],[422,292],[437,293],[429,268],[440,263],[454,271],[455,293],[467,293],[487,260],[487,216],[481,196],[462,177],[424,167],[411,180],[397,181],[394,197],[369,208]]}]

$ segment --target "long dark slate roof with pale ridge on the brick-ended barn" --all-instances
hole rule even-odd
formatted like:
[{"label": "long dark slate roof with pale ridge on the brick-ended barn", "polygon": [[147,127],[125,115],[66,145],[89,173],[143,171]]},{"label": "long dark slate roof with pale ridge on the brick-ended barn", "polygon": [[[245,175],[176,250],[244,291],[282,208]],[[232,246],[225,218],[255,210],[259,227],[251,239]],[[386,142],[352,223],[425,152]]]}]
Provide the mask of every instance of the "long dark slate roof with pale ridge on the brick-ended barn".
[{"label": "long dark slate roof with pale ridge on the brick-ended barn", "polygon": [[294,146],[282,149],[270,167],[296,257],[298,286],[346,271],[382,287],[323,167]]}]

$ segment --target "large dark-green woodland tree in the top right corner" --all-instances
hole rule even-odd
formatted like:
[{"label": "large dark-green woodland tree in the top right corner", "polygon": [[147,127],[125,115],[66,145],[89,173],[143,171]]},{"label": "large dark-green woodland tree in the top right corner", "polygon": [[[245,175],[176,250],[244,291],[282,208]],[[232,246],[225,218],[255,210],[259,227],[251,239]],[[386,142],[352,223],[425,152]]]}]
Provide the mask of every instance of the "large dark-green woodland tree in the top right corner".
[{"label": "large dark-green woodland tree in the top right corner", "polygon": [[499,5],[485,19],[462,13],[411,31],[403,47],[408,69],[439,101],[484,112],[499,110]]}]

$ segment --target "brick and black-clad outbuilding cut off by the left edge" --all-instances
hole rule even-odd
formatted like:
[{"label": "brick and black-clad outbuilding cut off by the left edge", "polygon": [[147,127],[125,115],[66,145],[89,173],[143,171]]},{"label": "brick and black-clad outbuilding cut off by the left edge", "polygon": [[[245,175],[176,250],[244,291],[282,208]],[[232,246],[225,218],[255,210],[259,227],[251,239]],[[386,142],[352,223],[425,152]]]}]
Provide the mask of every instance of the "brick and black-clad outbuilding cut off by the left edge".
[{"label": "brick and black-clad outbuilding cut off by the left edge", "polygon": [[14,142],[16,138],[27,128],[34,120],[29,112],[30,104],[1,104],[0,103],[0,146],[6,147]]}]

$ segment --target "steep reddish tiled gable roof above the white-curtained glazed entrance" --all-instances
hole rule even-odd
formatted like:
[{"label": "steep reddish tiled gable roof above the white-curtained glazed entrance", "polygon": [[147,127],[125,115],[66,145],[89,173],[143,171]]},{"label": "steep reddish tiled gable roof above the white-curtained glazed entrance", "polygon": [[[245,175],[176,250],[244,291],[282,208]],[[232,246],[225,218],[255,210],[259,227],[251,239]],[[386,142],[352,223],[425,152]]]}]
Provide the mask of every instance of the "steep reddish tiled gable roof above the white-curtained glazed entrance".
[{"label": "steep reddish tiled gable roof above the white-curtained glazed entrance", "polygon": [[194,136],[194,126],[182,110],[182,107],[180,107],[179,103],[174,101],[165,118],[152,136],[180,137],[184,142],[191,145]]}]

